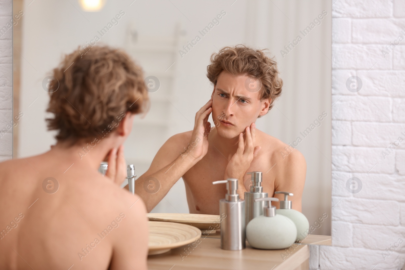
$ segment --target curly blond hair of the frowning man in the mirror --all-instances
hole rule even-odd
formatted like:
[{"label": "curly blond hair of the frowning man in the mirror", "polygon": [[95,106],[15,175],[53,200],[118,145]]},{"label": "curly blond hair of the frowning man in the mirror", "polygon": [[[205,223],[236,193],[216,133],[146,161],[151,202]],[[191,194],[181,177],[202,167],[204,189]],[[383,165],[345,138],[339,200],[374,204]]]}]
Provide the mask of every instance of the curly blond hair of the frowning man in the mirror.
[{"label": "curly blond hair of the frowning man in the mirror", "polygon": [[269,100],[270,110],[275,99],[281,95],[283,81],[279,77],[274,57],[267,57],[264,50],[255,50],[239,44],[224,47],[218,53],[213,53],[211,64],[207,66],[209,81],[216,85],[223,70],[232,75],[244,74],[259,79],[262,83],[260,100]]}]

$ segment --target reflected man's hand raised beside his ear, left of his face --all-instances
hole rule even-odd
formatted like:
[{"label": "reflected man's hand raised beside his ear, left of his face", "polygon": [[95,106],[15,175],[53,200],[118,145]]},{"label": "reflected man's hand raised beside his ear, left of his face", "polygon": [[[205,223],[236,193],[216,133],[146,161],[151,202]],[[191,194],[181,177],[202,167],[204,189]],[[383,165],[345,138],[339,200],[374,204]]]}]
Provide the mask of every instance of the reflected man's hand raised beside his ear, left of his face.
[{"label": "reflected man's hand raised beside his ear, left of his face", "polygon": [[212,111],[211,106],[212,98],[196,113],[191,141],[187,149],[181,154],[182,157],[190,155],[198,162],[207,154],[208,134],[211,131],[211,123],[208,122],[208,117]]}]

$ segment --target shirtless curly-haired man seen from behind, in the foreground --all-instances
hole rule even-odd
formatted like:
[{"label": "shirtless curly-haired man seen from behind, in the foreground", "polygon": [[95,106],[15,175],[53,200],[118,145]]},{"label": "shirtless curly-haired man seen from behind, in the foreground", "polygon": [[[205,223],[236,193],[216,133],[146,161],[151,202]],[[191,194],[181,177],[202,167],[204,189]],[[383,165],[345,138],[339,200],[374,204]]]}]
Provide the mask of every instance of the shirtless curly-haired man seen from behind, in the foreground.
[{"label": "shirtless curly-haired man seen from behind, in the foreground", "polygon": [[[147,269],[145,204],[119,188],[122,144],[134,115],[146,111],[143,73],[116,49],[79,52],[66,55],[49,84],[57,144],[0,163],[0,269]],[[196,134],[207,117],[196,115]],[[179,161],[180,176],[203,154]],[[171,173],[165,177],[180,178]]]}]

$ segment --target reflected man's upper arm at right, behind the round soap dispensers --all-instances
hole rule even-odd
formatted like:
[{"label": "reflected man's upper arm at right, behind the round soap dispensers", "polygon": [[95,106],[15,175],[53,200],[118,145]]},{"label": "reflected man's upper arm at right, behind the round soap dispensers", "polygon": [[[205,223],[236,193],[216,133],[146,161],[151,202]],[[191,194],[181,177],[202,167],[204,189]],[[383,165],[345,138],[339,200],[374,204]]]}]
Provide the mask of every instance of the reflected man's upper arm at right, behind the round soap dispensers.
[{"label": "reflected man's upper arm at right, behind the round soap dispensers", "polygon": [[[303,154],[294,149],[285,159],[277,162],[279,170],[274,182],[274,191],[286,191],[293,193],[294,196],[288,196],[292,203],[292,209],[301,212],[302,194],[305,185],[305,176],[307,174],[307,162]],[[272,194],[269,194],[271,196]],[[274,194],[280,201],[284,200],[283,194]],[[279,202],[272,202],[274,206],[280,208]]]}]

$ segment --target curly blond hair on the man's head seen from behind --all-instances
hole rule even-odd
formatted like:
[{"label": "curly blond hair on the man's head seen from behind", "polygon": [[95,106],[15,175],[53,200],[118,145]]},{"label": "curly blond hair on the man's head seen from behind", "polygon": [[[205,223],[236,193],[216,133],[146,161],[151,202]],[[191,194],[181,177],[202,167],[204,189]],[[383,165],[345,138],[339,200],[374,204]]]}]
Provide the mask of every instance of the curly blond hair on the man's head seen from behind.
[{"label": "curly blond hair on the man's head seen from behind", "polygon": [[58,142],[70,145],[110,134],[128,111],[149,109],[143,71],[128,54],[107,46],[84,52],[79,46],[65,55],[51,79],[58,88],[49,93],[48,130],[58,130]]}]

